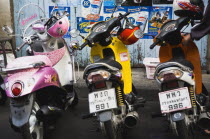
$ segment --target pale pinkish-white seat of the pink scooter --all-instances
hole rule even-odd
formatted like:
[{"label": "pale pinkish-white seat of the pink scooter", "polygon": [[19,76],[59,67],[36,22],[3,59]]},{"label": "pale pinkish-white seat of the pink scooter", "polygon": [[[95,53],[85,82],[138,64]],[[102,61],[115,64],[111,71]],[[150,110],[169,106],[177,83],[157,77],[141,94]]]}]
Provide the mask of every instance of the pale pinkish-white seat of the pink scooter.
[{"label": "pale pinkish-white seat of the pink scooter", "polygon": [[22,68],[27,67],[29,65],[44,62],[45,66],[52,66],[52,62],[47,56],[44,55],[37,55],[37,56],[24,56],[14,59],[11,63],[9,63],[6,67],[6,69],[12,69],[12,68]]}]

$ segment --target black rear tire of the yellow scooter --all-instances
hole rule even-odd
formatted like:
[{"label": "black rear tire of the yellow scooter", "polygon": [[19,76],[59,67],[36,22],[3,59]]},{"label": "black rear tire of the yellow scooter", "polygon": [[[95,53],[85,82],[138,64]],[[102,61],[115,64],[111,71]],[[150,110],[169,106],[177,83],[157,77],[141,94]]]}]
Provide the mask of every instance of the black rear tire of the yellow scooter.
[{"label": "black rear tire of the yellow scooter", "polygon": [[113,121],[104,122],[104,128],[108,139],[123,139],[123,127],[114,127]]}]

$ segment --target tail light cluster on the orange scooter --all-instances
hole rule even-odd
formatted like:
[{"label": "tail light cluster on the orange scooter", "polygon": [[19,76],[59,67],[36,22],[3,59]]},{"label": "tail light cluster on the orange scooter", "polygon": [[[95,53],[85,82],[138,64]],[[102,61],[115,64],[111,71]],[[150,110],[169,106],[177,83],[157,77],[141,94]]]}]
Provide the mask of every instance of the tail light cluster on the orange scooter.
[{"label": "tail light cluster on the orange scooter", "polygon": [[[169,75],[169,76],[166,76]],[[173,75],[173,76],[170,76]],[[158,74],[157,79],[160,82],[163,82],[166,78],[167,80],[173,80],[174,77],[175,78],[181,78],[183,75],[183,72],[178,70],[178,69],[172,69],[172,70],[168,70],[168,71],[163,71],[161,73]]]}]

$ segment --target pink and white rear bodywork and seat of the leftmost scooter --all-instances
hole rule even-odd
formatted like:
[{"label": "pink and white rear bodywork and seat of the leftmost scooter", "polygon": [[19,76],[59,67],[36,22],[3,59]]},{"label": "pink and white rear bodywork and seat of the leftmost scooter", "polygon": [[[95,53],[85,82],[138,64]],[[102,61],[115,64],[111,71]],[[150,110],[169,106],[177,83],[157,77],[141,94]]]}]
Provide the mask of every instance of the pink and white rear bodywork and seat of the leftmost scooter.
[{"label": "pink and white rear bodywork and seat of the leftmost scooter", "polygon": [[44,62],[45,66],[8,71],[8,76],[4,80],[7,96],[15,97],[12,93],[12,85],[15,82],[20,82],[23,85],[23,90],[18,97],[48,86],[60,87],[59,77],[53,66],[62,59],[65,51],[64,46],[51,52],[34,52],[34,56],[19,57],[9,63],[6,69],[21,68],[38,62]]}]

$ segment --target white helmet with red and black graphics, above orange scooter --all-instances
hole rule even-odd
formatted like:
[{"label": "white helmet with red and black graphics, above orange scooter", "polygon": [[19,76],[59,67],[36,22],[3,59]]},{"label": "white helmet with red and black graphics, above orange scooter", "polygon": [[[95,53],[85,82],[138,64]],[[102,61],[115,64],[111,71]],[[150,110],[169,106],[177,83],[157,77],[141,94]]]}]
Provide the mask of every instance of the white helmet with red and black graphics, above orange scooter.
[{"label": "white helmet with red and black graphics, above orange scooter", "polygon": [[203,0],[174,0],[174,14],[180,17],[189,17],[193,20],[203,18],[204,3]]}]

